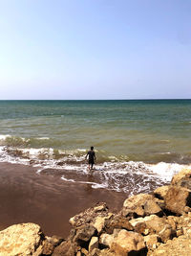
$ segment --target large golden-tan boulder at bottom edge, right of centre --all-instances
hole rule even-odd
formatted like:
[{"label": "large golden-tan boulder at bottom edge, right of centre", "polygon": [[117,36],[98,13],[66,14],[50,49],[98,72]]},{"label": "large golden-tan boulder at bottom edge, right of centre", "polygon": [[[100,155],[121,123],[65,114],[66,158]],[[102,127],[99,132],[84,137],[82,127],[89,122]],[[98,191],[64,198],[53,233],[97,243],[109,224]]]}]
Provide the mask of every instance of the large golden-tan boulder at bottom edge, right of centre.
[{"label": "large golden-tan boulder at bottom edge, right of centre", "polygon": [[116,255],[127,255],[127,253],[136,251],[139,253],[141,249],[145,248],[143,237],[132,231],[121,229],[117,235],[117,238],[111,245],[111,250]]}]

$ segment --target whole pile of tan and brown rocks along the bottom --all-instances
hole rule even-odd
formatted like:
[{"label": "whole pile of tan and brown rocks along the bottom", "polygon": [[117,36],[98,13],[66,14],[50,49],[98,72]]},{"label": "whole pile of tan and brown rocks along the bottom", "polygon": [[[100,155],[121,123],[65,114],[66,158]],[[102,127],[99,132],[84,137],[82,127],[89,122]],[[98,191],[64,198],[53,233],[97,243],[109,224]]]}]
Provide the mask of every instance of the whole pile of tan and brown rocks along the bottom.
[{"label": "whole pile of tan and brown rocks along the bottom", "polygon": [[0,231],[0,256],[191,255],[191,170],[152,194],[127,198],[117,213],[104,202],[70,219],[67,239],[34,223]]}]

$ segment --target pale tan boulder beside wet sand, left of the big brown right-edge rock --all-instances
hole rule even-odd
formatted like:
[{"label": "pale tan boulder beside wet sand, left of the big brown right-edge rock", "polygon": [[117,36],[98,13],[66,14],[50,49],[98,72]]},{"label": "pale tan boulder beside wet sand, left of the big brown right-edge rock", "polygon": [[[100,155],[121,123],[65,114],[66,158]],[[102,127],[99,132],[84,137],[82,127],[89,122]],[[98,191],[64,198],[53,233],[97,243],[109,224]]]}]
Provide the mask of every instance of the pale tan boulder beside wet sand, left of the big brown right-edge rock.
[{"label": "pale tan boulder beside wet sand, left of the big brown right-edge rock", "polygon": [[[124,217],[144,217],[146,214],[149,214],[149,212],[152,212],[152,208],[147,207],[147,201],[151,201],[153,205],[155,205],[155,210],[157,214],[161,212],[161,209],[158,207],[157,203],[154,200],[154,196],[147,195],[147,194],[139,194],[136,196],[132,196],[130,198],[127,198],[123,203],[122,208],[122,215]],[[147,212],[145,212],[144,207],[146,206]]]}]

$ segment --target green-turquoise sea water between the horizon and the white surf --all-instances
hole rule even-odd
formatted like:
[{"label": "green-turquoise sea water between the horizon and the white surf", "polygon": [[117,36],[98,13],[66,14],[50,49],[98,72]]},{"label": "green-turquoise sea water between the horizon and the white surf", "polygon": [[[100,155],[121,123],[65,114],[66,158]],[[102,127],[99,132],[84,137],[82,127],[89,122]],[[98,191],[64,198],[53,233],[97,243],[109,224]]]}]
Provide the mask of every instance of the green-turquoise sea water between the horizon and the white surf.
[{"label": "green-turquoise sea water between the horizon and the white surf", "polygon": [[0,128],[2,146],[191,162],[191,100],[0,101]]}]

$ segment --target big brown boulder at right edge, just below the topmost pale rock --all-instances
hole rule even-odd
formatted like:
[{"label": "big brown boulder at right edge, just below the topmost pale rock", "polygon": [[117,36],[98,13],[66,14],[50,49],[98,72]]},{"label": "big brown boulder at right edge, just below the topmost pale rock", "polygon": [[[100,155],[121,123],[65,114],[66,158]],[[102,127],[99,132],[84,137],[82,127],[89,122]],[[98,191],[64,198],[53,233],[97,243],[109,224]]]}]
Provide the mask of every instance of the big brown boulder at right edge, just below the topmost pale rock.
[{"label": "big brown boulder at right edge, just below the topmost pale rock", "polygon": [[177,186],[170,186],[165,196],[165,208],[175,214],[181,215],[191,206],[191,191]]}]

